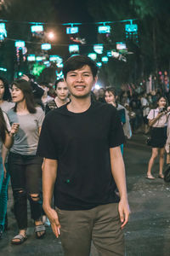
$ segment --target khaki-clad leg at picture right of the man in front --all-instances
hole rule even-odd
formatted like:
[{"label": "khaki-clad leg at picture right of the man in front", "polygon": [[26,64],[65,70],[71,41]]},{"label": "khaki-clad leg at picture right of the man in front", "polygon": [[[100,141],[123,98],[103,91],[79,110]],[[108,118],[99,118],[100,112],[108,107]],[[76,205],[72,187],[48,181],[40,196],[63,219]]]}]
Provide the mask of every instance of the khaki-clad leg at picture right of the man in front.
[{"label": "khaki-clad leg at picture right of the man in front", "polygon": [[124,236],[116,203],[95,207],[92,240],[101,256],[124,256]]}]

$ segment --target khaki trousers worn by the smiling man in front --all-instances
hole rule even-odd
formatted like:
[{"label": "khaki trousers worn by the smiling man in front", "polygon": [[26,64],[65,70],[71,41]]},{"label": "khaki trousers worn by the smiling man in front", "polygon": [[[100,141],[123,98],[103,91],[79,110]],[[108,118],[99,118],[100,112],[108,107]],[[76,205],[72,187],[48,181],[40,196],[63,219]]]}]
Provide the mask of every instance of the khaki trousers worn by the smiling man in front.
[{"label": "khaki trousers worn by the smiling man in front", "polygon": [[65,211],[57,208],[56,211],[65,256],[89,256],[92,241],[99,255],[125,255],[117,203],[90,210]]}]

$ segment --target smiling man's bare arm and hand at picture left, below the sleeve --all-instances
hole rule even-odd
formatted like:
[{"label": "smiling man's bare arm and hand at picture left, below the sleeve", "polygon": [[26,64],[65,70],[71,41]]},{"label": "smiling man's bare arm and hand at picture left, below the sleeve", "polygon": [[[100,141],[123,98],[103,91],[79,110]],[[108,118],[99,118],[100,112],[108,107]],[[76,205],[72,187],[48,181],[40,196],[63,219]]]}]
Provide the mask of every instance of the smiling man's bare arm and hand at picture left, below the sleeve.
[{"label": "smiling man's bare arm and hand at picture left, below the sleeve", "polygon": [[42,193],[43,193],[43,210],[46,212],[51,223],[54,235],[59,237],[59,218],[57,212],[51,207],[51,201],[54,192],[54,183],[57,177],[57,160],[44,158],[42,164]]}]

